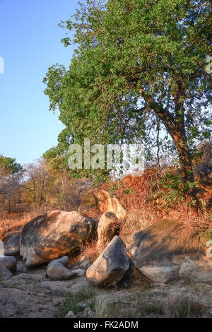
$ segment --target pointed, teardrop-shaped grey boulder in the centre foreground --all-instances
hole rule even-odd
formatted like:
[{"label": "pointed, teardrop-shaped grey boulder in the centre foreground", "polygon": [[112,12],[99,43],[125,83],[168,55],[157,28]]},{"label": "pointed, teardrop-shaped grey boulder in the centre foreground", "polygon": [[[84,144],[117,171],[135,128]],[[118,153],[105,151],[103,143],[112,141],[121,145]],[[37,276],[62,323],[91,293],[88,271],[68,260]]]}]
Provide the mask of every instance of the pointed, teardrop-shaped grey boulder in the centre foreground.
[{"label": "pointed, teardrop-shaped grey boulder in the centre foreground", "polygon": [[116,235],[98,259],[88,268],[86,276],[90,283],[102,287],[119,283],[128,269],[129,258],[126,255],[126,246]]}]

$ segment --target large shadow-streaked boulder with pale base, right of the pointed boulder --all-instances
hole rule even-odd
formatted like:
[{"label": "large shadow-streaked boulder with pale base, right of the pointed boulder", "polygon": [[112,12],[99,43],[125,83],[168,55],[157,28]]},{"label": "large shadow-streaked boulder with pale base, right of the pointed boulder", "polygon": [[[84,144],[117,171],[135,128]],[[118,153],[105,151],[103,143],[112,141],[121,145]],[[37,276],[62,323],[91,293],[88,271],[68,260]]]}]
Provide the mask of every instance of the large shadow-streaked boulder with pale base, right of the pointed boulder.
[{"label": "large shadow-streaked boulder with pale base, right of the pointed boulder", "polygon": [[179,275],[185,255],[195,256],[198,244],[187,243],[181,235],[184,224],[162,219],[134,235],[130,251],[136,268],[155,283],[166,283]]}]

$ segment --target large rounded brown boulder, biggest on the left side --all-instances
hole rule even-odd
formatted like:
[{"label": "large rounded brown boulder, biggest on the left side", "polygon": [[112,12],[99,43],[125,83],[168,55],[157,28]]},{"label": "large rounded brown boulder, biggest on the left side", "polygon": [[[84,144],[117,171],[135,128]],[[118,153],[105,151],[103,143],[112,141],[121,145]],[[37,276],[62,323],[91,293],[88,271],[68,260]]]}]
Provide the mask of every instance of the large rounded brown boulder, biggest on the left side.
[{"label": "large rounded brown boulder, biggest on the left side", "polygon": [[27,223],[20,237],[20,254],[27,267],[57,259],[95,234],[95,220],[76,211],[52,211]]}]

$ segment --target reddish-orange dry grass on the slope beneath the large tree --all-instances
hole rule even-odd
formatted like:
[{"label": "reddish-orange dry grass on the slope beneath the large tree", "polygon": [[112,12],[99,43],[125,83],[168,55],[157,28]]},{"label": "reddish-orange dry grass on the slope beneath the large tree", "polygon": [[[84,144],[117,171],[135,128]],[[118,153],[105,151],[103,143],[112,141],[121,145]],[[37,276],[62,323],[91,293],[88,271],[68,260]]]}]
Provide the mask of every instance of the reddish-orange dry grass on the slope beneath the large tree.
[{"label": "reddish-orange dry grass on the slope beneath the large tree", "polygon": [[[169,171],[174,176],[179,176],[177,170],[170,169]],[[127,218],[122,222],[120,232],[120,236],[126,242],[130,241],[135,232],[162,218],[172,218],[184,223],[182,237],[192,238],[198,234],[210,234],[212,227],[211,184],[199,183],[201,211],[196,211],[189,206],[189,197],[186,197],[183,201],[171,197],[172,206],[168,206],[165,198],[169,198],[171,189],[164,187],[164,184],[167,184],[166,172],[166,168],[152,167],[145,170],[141,177],[131,177],[129,175],[124,177],[122,182],[102,185],[102,189],[108,191],[113,188],[113,194],[128,212]]]}]

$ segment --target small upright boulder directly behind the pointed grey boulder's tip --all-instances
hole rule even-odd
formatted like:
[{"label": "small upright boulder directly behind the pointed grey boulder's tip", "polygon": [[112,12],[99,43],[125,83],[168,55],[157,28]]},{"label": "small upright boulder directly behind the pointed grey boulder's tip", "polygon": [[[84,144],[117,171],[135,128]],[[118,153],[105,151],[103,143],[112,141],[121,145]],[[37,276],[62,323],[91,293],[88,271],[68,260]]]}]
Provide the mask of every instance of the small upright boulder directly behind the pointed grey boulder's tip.
[{"label": "small upright boulder directly behind the pointed grey boulder's tip", "polygon": [[112,212],[103,213],[98,223],[97,247],[101,247],[107,241],[111,241],[119,230],[119,220]]}]

